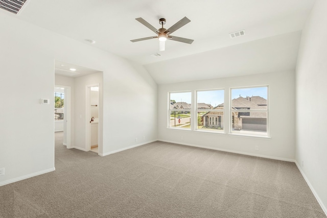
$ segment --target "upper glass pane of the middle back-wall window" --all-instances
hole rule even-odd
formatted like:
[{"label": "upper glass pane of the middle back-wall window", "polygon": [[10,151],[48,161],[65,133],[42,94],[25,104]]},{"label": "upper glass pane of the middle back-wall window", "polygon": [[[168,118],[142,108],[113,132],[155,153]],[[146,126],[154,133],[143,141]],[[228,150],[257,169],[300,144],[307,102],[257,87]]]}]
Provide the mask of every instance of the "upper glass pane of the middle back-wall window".
[{"label": "upper glass pane of the middle back-wall window", "polygon": [[219,105],[223,107],[223,103],[224,90],[197,91],[197,109],[216,109]]}]

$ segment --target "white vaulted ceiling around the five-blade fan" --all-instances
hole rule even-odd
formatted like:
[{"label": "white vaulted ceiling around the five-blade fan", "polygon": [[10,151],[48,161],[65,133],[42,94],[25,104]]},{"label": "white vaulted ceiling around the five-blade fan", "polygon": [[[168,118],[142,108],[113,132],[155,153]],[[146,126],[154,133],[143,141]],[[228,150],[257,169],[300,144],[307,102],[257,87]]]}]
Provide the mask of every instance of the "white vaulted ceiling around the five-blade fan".
[{"label": "white vaulted ceiling around the five-blade fan", "polygon": [[[299,31],[314,2],[33,0],[17,17],[84,43],[95,40],[90,46],[145,65],[157,83],[167,83],[294,69]],[[168,40],[166,51],[159,52],[157,39],[130,41],[155,35],[137,17],[155,28],[166,18],[168,29],[184,16],[191,22],[172,35],[194,39],[192,44]],[[245,36],[229,37],[243,29]],[[150,56],[154,53],[161,56]],[[190,78],[183,80],[186,73]]]}]

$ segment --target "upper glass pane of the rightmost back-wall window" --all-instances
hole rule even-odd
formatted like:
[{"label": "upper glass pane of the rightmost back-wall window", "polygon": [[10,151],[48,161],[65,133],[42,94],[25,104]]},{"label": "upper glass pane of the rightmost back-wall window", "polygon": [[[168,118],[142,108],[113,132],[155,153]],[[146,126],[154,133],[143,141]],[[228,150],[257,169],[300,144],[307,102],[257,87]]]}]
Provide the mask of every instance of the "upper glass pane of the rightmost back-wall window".
[{"label": "upper glass pane of the rightmost back-wall window", "polygon": [[231,89],[231,109],[267,110],[268,87]]}]

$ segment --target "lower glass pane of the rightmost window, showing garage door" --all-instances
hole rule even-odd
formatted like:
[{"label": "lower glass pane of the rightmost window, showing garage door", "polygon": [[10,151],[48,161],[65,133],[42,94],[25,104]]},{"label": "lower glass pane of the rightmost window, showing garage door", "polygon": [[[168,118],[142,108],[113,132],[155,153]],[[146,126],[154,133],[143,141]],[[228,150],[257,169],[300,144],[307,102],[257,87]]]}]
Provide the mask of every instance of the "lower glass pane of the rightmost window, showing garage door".
[{"label": "lower glass pane of the rightmost window, showing garage door", "polygon": [[267,135],[267,112],[231,112],[232,131]]}]

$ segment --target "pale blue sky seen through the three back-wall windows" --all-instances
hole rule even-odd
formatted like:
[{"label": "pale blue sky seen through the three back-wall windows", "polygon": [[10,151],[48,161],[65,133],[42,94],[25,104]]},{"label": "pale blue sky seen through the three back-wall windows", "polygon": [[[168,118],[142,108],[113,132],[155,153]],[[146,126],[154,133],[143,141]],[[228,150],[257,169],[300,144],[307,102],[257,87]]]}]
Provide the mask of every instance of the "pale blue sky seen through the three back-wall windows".
[{"label": "pale blue sky seen through the three back-wall windows", "polygon": [[[235,88],[231,89],[232,99],[237,99],[241,95],[246,96],[261,96],[267,99],[268,87],[252,87],[252,88]],[[191,92],[171,92],[170,99],[176,102],[186,102],[191,104],[192,94]],[[197,102],[211,104],[216,107],[217,105],[224,102],[224,90],[207,90],[197,91]]]}]

